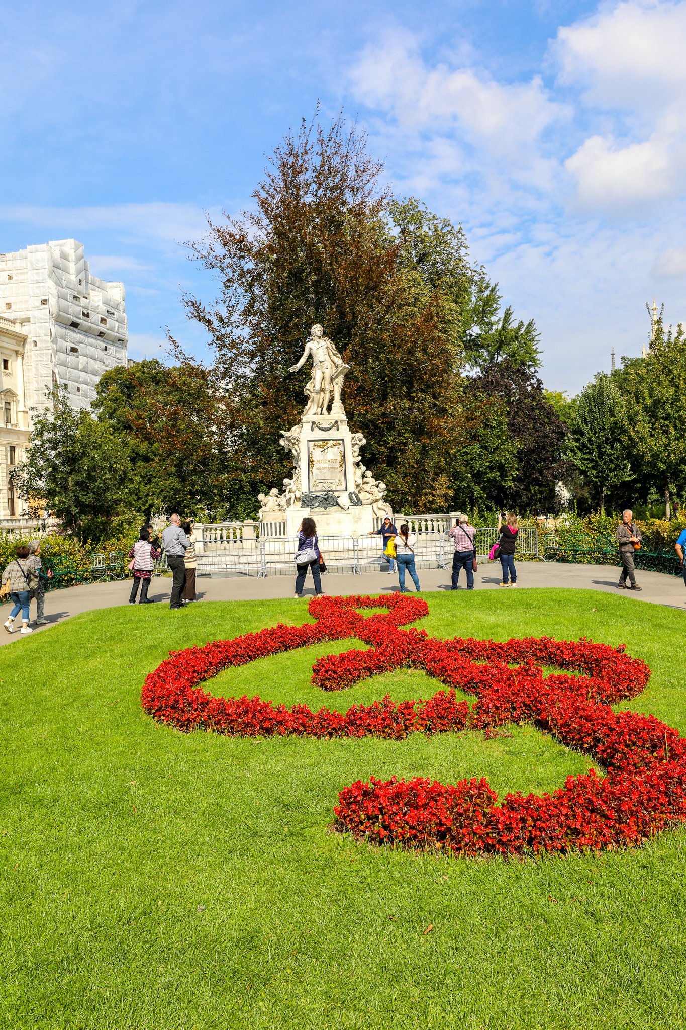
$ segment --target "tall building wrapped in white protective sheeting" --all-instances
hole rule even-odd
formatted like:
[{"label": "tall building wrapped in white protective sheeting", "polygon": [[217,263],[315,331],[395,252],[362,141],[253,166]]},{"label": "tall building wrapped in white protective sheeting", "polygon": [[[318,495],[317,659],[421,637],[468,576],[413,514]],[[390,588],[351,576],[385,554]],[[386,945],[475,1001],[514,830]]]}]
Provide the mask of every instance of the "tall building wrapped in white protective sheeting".
[{"label": "tall building wrapped in white protective sheeting", "polygon": [[64,387],[73,408],[87,410],[103,372],[127,365],[123,284],[92,275],[76,240],[0,253],[0,316],[27,333],[29,409],[48,407]]}]

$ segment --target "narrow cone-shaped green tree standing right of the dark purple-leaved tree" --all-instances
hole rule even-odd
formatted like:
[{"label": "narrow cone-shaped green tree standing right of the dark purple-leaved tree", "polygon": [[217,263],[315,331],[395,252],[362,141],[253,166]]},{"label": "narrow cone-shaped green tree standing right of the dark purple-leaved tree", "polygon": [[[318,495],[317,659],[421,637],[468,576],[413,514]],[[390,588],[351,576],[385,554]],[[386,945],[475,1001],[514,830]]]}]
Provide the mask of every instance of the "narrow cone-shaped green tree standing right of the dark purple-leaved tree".
[{"label": "narrow cone-shaped green tree standing right of the dark purple-leaved tree", "polygon": [[626,405],[614,380],[600,373],[576,401],[568,453],[605,515],[608,490],[631,477]]}]

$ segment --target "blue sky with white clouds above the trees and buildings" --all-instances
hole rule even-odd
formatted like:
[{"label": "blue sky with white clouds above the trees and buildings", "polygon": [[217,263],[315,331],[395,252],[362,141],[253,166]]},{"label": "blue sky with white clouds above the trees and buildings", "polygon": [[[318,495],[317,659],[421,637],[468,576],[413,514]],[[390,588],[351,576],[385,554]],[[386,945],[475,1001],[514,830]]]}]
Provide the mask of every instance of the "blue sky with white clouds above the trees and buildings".
[{"label": "blue sky with white clouds above the trees and buildings", "polygon": [[577,391],[686,320],[686,2],[2,5],[0,250],[73,236],[127,286],[130,353],[207,352],[181,245],[250,204],[319,99],[472,256]]}]

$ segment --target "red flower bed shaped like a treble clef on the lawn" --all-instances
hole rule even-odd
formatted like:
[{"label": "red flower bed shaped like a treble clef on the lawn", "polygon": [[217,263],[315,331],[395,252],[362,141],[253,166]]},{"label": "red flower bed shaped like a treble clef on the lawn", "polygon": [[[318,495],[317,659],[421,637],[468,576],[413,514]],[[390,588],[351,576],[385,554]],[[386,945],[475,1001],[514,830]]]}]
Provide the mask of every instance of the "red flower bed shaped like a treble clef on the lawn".
[{"label": "red flower bed shaped like a treble clef on the lawn", "polygon": [[[373,608],[388,611],[370,617],[356,611]],[[484,779],[455,786],[421,778],[357,781],[339,794],[335,825],[380,844],[466,855],[565,853],[638,845],[686,819],[686,741],[652,716],[610,708],[641,693],[650,675],[623,648],[547,638],[439,641],[401,628],[428,612],[426,602],[411,594],[317,597],[310,612],[313,623],[280,624],[172,654],[146,678],[143,707],[183,730],[248,736],[401,739],[527,722],[592,755],[606,769],[602,779],[592,769],[568,777],[563,788],[541,797],[508,794],[501,804]],[[275,707],[259,697],[217,698],[200,686],[230,665],[348,637],[370,647],[320,658],[313,683],[323,690],[345,690],[403,666],[424,670],[447,690],[400,703],[387,696],[342,714],[326,708],[313,712],[305,705]],[[566,672],[543,676],[541,665]],[[475,695],[471,708],[457,699],[458,689]]]}]

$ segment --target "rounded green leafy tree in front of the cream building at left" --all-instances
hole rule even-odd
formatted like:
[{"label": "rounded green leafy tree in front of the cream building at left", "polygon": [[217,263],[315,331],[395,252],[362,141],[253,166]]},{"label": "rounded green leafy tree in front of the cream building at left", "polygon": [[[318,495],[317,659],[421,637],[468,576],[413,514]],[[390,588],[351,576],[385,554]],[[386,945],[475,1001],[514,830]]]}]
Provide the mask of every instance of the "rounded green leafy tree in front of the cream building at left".
[{"label": "rounded green leafy tree in front of the cream building at left", "polygon": [[131,465],[112,430],[56,396],[53,412],[34,420],[12,480],[27,502],[42,499],[81,541],[98,540],[131,508]]}]

